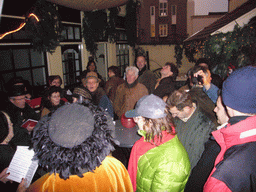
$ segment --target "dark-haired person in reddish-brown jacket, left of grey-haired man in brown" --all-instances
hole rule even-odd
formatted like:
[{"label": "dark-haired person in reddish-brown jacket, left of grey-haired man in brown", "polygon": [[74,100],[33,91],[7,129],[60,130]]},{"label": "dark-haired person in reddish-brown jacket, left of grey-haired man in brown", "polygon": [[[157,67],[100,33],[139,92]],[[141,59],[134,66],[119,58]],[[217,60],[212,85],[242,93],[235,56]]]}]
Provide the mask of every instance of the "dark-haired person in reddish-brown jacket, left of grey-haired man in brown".
[{"label": "dark-haired person in reddish-brown jacket, left of grey-haired man in brown", "polygon": [[119,85],[124,83],[124,80],[120,78],[120,72],[117,66],[111,66],[108,68],[108,77],[109,79],[106,82],[105,91],[108,98],[113,103],[115,100],[116,89]]}]

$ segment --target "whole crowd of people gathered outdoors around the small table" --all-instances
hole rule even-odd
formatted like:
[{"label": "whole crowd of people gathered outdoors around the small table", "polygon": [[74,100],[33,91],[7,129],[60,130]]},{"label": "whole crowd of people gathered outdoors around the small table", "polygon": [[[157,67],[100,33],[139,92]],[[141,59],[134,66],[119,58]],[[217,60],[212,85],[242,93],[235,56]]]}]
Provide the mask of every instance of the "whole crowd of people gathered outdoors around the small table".
[{"label": "whole crowd of people gathered outdoors around the small table", "polygon": [[[48,78],[39,111],[21,77],[7,84],[0,111],[0,185],[8,191],[255,191],[256,67],[224,81],[199,59],[182,87],[175,64],[157,79],[138,55],[125,78],[108,68],[105,82],[89,61],[74,90]],[[37,106],[38,107],[38,106]],[[141,139],[128,166],[112,156],[114,120],[133,118]],[[35,126],[27,120],[35,120]],[[8,180],[17,146],[35,151],[31,185]]]}]

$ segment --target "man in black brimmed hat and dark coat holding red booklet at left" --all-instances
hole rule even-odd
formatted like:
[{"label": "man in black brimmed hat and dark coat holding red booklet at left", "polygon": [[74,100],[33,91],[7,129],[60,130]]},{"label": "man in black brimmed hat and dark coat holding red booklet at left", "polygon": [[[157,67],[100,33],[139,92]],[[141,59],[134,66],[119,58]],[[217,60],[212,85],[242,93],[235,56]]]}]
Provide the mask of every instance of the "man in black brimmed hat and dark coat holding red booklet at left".
[{"label": "man in black brimmed hat and dark coat holding red booklet at left", "polygon": [[39,120],[39,115],[26,103],[24,85],[13,85],[8,89],[8,102],[5,111],[11,118],[14,127],[14,145],[28,145],[30,142],[29,134],[34,126],[28,125],[26,128],[21,125],[28,119]]}]

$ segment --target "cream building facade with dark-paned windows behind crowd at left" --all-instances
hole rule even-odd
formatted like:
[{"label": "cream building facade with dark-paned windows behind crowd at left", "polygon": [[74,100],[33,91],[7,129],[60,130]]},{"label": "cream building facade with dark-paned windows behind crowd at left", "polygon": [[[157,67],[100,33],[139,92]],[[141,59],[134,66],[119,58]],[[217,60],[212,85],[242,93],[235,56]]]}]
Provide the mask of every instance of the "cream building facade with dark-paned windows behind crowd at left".
[{"label": "cream building facade with dark-paned windows behind crowd at left", "polygon": [[[12,0],[13,1],[13,0]],[[30,0],[27,7],[6,1],[1,14],[0,35],[18,29],[25,23],[25,16],[31,11],[35,0]],[[19,2],[14,0],[15,2]],[[60,75],[63,87],[74,88],[80,83],[80,74],[86,69],[91,54],[86,50],[83,31],[83,12],[60,5],[55,5],[61,18],[63,30],[61,40],[53,53],[34,50],[31,36],[26,27],[9,33],[0,39],[0,91],[13,77],[21,76],[27,80],[36,92],[41,92],[47,84],[47,77]],[[40,18],[39,18],[40,19]],[[120,31],[124,30],[122,28]],[[122,68],[130,65],[132,48],[127,39],[120,35],[116,43],[108,40],[98,42],[96,65],[98,72],[107,80],[107,68],[117,65]],[[133,59],[132,59],[133,60]]]}]

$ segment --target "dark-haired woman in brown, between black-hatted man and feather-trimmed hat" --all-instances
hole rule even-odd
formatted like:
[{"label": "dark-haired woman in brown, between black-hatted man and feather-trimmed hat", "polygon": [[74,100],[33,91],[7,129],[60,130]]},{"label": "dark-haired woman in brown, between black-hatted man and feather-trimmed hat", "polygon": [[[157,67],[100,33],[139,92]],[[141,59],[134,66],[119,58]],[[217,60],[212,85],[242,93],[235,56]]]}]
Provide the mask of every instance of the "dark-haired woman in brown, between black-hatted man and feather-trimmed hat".
[{"label": "dark-haired woman in brown, between black-hatted man and feather-trimmed hat", "polygon": [[41,117],[55,111],[65,104],[65,101],[61,100],[62,89],[60,87],[51,86],[47,90],[46,96],[46,101],[41,111]]}]

